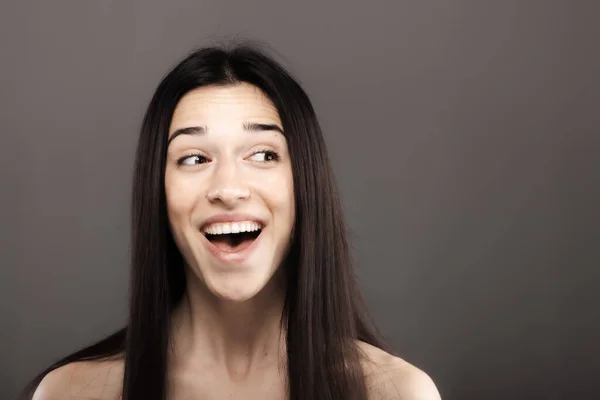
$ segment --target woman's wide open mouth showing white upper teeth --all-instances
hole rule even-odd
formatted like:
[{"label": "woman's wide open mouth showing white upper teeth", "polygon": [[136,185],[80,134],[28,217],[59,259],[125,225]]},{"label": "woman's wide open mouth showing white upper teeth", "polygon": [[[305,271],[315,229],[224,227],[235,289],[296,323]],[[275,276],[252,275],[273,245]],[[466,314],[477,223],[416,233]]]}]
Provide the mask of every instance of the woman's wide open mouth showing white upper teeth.
[{"label": "woman's wide open mouth showing white upper teeth", "polygon": [[250,247],[261,232],[258,224],[219,224],[205,229],[204,236],[220,250],[235,253]]}]

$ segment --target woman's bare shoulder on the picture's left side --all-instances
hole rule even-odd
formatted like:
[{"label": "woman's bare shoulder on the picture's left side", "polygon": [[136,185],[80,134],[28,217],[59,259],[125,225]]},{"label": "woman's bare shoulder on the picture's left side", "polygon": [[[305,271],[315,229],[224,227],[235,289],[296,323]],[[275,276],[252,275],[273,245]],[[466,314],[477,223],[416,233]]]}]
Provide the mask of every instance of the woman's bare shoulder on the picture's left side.
[{"label": "woman's bare shoulder on the picture's left side", "polygon": [[78,361],[49,372],[32,400],[119,400],[122,359]]}]

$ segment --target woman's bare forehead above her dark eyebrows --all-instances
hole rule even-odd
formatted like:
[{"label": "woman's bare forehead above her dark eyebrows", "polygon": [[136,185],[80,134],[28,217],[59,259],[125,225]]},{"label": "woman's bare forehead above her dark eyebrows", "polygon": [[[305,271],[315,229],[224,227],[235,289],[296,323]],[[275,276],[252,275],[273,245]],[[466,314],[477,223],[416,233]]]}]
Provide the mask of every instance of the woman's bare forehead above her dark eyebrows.
[{"label": "woman's bare forehead above her dark eyebrows", "polygon": [[186,93],[177,103],[169,135],[189,126],[241,127],[247,121],[281,125],[273,102],[256,86],[203,86]]}]

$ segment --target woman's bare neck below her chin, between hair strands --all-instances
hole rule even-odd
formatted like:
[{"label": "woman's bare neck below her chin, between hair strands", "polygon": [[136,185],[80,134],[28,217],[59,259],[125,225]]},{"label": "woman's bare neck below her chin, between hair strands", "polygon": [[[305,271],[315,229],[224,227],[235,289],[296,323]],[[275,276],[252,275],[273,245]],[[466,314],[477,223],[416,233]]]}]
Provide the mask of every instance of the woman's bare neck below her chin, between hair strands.
[{"label": "woman's bare neck below her chin, between hair strands", "polygon": [[237,379],[285,362],[284,292],[274,277],[243,302],[219,299],[194,274],[173,312],[173,362],[192,368],[225,368]]}]

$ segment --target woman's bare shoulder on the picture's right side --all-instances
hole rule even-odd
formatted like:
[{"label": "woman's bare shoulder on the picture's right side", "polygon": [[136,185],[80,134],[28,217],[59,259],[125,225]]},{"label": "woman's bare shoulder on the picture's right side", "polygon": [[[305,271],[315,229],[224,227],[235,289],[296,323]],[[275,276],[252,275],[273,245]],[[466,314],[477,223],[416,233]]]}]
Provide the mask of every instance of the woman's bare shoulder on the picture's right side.
[{"label": "woman's bare shoulder on the picture's right side", "polygon": [[440,400],[425,372],[377,347],[358,342],[369,400]]}]

